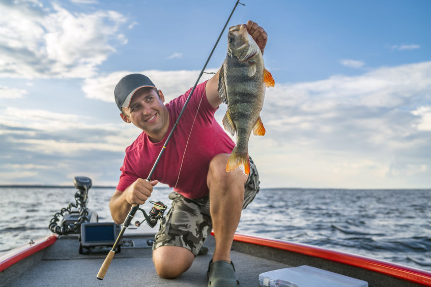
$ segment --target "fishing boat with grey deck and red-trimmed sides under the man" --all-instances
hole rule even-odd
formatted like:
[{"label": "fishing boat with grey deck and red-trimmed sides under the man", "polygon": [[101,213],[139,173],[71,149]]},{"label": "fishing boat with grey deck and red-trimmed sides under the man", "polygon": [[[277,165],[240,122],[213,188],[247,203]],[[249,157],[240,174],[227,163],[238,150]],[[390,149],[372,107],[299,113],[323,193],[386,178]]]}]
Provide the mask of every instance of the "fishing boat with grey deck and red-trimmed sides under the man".
[{"label": "fishing boat with grey deck and red-trimmed sides under the man", "polygon": [[[86,194],[81,194],[81,199],[86,199]],[[81,204],[84,205],[85,200]],[[76,216],[78,212],[68,211],[63,220]],[[215,247],[213,234],[207,238],[202,254],[196,257],[189,270],[178,278],[163,279],[157,275],[152,262],[152,244],[157,229],[147,225],[132,225],[125,229],[109,269],[100,280],[97,278],[99,269],[121,226],[113,222],[98,222],[95,212],[89,214],[92,216],[86,216],[87,222],[82,222],[80,229],[62,235],[47,234],[0,256],[0,286],[207,286],[208,264]],[[99,231],[95,233],[97,228]],[[92,241],[89,234],[103,237],[103,243],[99,239]],[[431,272],[426,270],[246,234],[235,234],[231,257],[243,287],[431,286]],[[271,273],[275,271],[286,276],[299,274],[310,283],[299,284],[289,276],[265,277],[265,274],[279,274]],[[324,283],[324,279],[329,277],[335,278],[333,284]],[[316,278],[322,280],[316,281]],[[340,283],[343,280],[361,284]]]}]

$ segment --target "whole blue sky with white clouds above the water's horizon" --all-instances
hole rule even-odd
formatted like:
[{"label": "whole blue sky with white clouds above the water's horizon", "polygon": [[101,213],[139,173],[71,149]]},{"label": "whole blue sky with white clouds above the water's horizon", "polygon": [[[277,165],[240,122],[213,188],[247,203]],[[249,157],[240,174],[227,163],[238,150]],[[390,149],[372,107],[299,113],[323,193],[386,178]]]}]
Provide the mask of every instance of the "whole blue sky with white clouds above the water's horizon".
[{"label": "whole blue sky with white clouds above the water's horizon", "polygon": [[[114,86],[143,73],[183,94],[235,3],[0,0],[0,184],[116,186],[141,131]],[[261,187],[431,188],[431,2],[241,3],[228,26],[264,27],[275,80],[249,141]]]}]

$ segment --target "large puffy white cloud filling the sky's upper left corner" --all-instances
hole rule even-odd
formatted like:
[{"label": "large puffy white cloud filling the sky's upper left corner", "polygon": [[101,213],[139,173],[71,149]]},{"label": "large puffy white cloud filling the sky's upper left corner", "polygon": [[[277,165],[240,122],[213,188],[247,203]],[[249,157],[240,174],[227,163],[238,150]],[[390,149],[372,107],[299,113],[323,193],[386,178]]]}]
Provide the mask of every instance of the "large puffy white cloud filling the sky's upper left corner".
[{"label": "large puffy white cloud filling the sky's upper left corner", "polygon": [[85,78],[127,43],[114,11],[70,12],[38,1],[0,3],[0,77]]}]

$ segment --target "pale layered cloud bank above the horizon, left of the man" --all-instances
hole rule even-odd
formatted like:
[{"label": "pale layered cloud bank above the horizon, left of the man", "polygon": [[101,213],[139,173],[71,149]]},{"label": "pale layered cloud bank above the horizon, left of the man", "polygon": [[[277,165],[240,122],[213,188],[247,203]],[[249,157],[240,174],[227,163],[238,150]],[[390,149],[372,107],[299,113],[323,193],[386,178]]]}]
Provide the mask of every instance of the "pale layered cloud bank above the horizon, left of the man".
[{"label": "pale layered cloud bank above the horizon, left of the man", "polygon": [[0,108],[0,184],[59,184],[84,174],[114,185],[124,150],[139,133],[92,116]]}]

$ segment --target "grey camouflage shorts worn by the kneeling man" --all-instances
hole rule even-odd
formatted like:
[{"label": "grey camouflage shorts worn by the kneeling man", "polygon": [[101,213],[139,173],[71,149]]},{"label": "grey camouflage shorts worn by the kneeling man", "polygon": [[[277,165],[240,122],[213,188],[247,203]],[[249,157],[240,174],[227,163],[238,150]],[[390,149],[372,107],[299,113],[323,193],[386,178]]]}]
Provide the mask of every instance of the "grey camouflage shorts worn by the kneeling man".
[{"label": "grey camouflage shorts worn by the kneeling man", "polygon": [[[245,183],[243,209],[259,192],[259,175],[250,158],[250,174]],[[160,220],[153,249],[160,246],[180,246],[193,252],[194,256],[212,230],[209,197],[188,199],[173,192],[169,195],[171,208]]]}]

